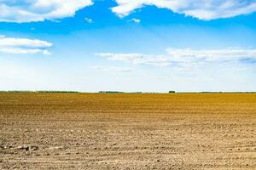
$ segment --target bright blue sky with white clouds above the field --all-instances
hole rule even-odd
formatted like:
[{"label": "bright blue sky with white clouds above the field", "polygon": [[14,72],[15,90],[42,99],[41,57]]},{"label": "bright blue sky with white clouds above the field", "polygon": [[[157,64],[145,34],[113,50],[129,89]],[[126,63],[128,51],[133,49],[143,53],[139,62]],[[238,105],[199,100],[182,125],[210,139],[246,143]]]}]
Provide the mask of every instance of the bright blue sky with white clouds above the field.
[{"label": "bright blue sky with white clouds above the field", "polygon": [[0,90],[256,91],[256,0],[0,0]]}]

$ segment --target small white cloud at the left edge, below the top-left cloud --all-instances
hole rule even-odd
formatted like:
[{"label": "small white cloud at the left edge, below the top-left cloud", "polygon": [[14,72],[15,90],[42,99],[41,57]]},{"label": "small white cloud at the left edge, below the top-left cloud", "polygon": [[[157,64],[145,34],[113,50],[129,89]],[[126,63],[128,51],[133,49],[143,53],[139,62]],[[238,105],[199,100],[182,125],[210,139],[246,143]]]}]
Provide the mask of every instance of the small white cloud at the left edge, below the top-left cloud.
[{"label": "small white cloud at the left edge, below the top-left cloud", "polygon": [[0,52],[7,54],[50,54],[52,43],[37,39],[5,37],[0,35]]}]

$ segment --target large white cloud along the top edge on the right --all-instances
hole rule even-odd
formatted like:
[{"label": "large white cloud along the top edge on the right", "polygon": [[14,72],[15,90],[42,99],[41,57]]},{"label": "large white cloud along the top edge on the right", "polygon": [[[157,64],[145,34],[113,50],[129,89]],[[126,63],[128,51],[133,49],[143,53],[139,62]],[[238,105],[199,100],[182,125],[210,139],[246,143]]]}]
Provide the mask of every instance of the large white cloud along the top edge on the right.
[{"label": "large white cloud along the top edge on the right", "polygon": [[174,13],[200,20],[229,18],[256,11],[256,0],[116,0],[116,3],[118,6],[113,7],[112,11],[120,17],[147,5],[168,8]]}]

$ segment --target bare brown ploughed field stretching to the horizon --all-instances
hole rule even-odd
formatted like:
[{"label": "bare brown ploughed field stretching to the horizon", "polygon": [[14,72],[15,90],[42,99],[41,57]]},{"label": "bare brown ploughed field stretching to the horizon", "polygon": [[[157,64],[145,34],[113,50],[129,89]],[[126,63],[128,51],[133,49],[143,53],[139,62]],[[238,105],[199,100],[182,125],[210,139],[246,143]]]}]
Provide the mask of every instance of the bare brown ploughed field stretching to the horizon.
[{"label": "bare brown ploughed field stretching to the horizon", "polygon": [[255,169],[256,94],[0,93],[0,169]]}]

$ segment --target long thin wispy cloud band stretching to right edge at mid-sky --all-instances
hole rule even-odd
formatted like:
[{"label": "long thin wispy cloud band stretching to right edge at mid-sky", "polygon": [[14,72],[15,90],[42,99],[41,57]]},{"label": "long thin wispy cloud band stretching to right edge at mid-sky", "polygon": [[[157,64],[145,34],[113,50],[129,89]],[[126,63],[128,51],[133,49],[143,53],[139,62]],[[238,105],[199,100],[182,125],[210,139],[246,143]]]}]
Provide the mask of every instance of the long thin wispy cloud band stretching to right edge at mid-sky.
[{"label": "long thin wispy cloud band stretching to right edge at mid-sky", "polygon": [[108,60],[124,61],[135,65],[199,65],[210,62],[240,62],[256,60],[256,49],[225,48],[212,50],[195,50],[190,48],[168,48],[165,55],[156,54],[96,54]]}]

